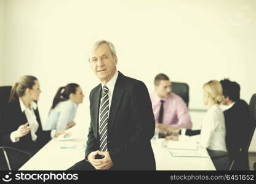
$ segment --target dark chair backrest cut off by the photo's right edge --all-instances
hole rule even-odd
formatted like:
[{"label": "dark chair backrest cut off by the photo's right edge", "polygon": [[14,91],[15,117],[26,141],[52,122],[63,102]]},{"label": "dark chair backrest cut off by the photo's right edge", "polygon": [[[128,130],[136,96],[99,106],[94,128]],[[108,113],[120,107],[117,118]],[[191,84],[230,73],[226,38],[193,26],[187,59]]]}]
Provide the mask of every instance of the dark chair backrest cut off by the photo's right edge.
[{"label": "dark chair backrest cut off by the photo's right edge", "polygon": [[254,131],[256,127],[256,94],[253,94],[252,98],[250,98],[249,109],[250,109],[250,120],[252,122],[252,125],[251,125],[252,129],[248,137],[249,141],[247,144],[247,150],[249,150],[250,142],[252,141],[252,137],[254,136]]}]

